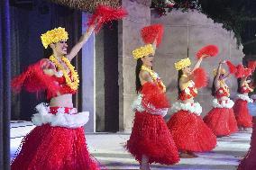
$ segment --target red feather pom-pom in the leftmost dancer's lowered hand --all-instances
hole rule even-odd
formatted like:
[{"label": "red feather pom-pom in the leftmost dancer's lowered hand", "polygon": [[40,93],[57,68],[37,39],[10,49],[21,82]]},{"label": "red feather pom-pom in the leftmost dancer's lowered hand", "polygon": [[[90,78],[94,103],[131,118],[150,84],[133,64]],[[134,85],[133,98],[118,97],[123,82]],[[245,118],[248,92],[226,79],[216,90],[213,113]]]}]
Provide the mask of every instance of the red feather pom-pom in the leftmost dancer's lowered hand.
[{"label": "red feather pom-pom in the leftmost dancer's lowered hand", "polygon": [[[56,85],[51,76],[43,73],[42,67],[45,67],[46,60],[29,66],[20,76],[16,76],[12,80],[12,88],[14,92],[19,93],[22,88],[30,93],[39,93],[48,90],[49,94],[56,94],[59,91],[59,85]],[[49,66],[50,67],[50,66]]]}]

